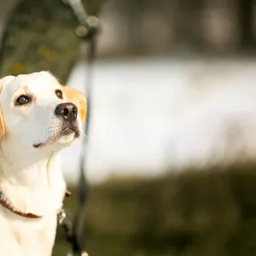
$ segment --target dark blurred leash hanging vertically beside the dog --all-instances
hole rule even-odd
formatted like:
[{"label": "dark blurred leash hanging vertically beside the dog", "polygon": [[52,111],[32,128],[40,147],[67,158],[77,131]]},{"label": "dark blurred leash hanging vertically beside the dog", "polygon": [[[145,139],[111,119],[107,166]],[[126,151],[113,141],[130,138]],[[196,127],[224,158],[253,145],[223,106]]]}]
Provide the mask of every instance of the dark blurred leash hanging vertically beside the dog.
[{"label": "dark blurred leash hanging vertically beside the dog", "polygon": [[[99,30],[99,21],[94,15],[87,15],[81,0],[63,0],[68,4],[76,18],[79,20],[79,27],[76,32],[83,43],[88,44],[87,50],[87,80],[86,91],[87,97],[87,115],[85,120],[84,133],[87,137],[90,126],[90,104],[91,104],[91,89],[92,89],[92,69],[96,58],[96,34]],[[67,216],[64,209],[58,213],[59,224],[63,227],[66,233],[67,241],[72,247],[67,256],[80,255],[87,256],[88,253],[84,250],[84,216],[85,202],[88,196],[88,185],[84,175],[84,160],[86,160],[88,139],[85,138],[82,144],[82,152],[80,158],[80,177],[79,177],[79,209],[73,221]]]}]

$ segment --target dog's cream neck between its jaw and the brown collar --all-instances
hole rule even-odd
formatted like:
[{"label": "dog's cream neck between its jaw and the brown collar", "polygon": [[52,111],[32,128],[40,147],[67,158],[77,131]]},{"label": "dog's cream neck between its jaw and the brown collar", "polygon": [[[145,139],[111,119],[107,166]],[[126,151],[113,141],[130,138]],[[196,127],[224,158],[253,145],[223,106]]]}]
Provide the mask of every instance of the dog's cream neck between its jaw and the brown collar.
[{"label": "dog's cream neck between its jaw and the brown collar", "polygon": [[45,216],[61,208],[66,184],[58,151],[2,143],[0,165],[0,189],[15,209]]}]

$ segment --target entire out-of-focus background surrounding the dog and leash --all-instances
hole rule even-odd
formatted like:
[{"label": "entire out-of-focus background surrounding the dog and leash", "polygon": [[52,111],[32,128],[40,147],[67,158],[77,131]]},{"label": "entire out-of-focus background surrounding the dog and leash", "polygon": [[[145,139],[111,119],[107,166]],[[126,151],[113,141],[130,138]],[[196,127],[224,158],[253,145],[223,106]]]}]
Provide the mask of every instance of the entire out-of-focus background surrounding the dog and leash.
[{"label": "entire out-of-focus background surrounding the dog and leash", "polygon": [[[256,255],[256,1],[84,0],[100,19],[86,205],[90,255]],[[0,1],[0,73],[86,92],[61,0]],[[82,141],[61,153],[77,210]],[[67,244],[58,232],[54,255]]]}]

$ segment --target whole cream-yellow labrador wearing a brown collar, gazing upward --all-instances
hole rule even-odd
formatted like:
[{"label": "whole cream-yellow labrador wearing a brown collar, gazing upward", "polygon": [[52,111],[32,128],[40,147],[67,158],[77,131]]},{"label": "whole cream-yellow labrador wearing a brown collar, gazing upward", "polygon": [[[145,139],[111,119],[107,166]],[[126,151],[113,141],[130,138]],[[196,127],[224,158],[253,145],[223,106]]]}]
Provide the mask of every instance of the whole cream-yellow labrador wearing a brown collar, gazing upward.
[{"label": "whole cream-yellow labrador wearing a brown collar, gazing upward", "polygon": [[0,255],[49,256],[66,184],[59,153],[82,134],[86,99],[47,72],[0,80]]}]

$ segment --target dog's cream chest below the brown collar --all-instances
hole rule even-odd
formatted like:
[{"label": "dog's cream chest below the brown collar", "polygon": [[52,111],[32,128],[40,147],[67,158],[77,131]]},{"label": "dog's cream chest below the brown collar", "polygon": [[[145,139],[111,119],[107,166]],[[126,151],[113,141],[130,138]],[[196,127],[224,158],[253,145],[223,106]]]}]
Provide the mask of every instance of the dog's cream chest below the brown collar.
[{"label": "dog's cream chest below the brown collar", "polygon": [[1,216],[0,226],[0,255],[51,255],[55,241],[56,216],[40,220],[18,216],[9,220]]}]

